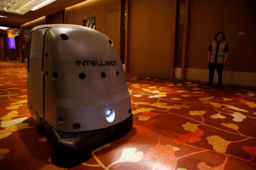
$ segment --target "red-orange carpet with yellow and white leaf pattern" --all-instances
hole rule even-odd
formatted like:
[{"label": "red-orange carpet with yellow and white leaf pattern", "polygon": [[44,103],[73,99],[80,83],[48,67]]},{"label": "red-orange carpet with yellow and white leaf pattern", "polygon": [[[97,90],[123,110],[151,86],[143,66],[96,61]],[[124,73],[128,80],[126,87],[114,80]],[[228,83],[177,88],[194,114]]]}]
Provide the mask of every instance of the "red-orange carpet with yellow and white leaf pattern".
[{"label": "red-orange carpet with yellow and white leaf pattern", "polygon": [[[27,65],[0,62],[0,169],[67,169],[27,110]],[[127,75],[134,127],[70,169],[256,169],[256,92]]]}]

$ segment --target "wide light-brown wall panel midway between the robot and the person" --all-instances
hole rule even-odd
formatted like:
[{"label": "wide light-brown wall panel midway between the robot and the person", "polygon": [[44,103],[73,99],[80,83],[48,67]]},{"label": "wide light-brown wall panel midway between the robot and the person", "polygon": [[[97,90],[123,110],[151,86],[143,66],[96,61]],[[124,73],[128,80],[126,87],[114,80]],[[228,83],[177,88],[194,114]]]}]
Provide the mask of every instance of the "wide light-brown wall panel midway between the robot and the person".
[{"label": "wide light-brown wall panel midway between the robot and the person", "polygon": [[127,73],[171,78],[175,1],[131,0]]}]

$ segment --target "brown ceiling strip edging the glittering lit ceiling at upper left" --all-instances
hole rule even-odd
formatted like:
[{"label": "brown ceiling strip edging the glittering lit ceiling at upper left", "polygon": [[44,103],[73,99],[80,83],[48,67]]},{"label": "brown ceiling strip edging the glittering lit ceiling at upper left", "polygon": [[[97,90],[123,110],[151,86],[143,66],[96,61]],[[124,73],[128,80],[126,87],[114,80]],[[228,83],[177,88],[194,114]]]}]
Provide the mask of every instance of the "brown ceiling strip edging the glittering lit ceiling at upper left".
[{"label": "brown ceiling strip edging the glittering lit ceiling at upper left", "polygon": [[[0,0],[1,1],[1,0]],[[22,0],[18,0],[22,1]],[[77,3],[84,2],[86,0],[57,0],[44,6],[36,11],[28,11],[26,14],[13,14],[10,12],[0,11],[0,15],[7,16],[8,18],[0,18],[0,26],[19,28],[20,25],[38,19],[45,15],[55,14],[66,7],[76,5]]]}]

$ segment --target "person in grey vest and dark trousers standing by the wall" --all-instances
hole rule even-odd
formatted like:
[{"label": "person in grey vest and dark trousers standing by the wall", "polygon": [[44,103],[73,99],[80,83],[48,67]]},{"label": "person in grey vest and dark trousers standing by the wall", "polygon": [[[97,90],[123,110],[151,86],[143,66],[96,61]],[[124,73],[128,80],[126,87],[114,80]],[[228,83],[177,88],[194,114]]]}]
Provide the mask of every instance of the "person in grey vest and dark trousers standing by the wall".
[{"label": "person in grey vest and dark trousers standing by the wall", "polygon": [[228,57],[228,44],[226,44],[225,35],[223,32],[217,32],[214,40],[208,48],[208,63],[209,63],[209,82],[207,86],[212,86],[215,68],[218,73],[218,87],[222,86],[222,71],[223,64]]}]

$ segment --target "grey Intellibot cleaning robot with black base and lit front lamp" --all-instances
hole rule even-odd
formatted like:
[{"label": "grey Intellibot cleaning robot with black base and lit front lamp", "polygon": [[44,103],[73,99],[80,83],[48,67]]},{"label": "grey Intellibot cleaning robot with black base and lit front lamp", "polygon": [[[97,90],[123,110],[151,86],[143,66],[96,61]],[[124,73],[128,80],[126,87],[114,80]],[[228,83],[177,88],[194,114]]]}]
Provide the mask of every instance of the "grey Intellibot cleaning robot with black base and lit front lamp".
[{"label": "grey Intellibot cleaning robot with black base and lit front lamp", "polygon": [[117,49],[103,33],[71,24],[40,25],[28,44],[28,110],[57,148],[101,146],[133,127]]}]

